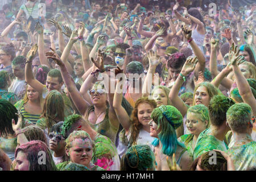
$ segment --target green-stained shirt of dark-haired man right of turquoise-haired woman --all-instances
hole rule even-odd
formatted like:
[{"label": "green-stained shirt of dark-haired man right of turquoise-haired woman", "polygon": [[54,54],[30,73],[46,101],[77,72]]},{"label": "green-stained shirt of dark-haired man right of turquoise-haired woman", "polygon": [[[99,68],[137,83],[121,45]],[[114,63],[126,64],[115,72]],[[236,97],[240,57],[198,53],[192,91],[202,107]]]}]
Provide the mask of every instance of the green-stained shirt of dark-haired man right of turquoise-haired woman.
[{"label": "green-stained shirt of dark-haired man right of turquoise-haired woman", "polygon": [[218,140],[216,137],[209,135],[210,129],[204,130],[200,133],[196,141],[196,146],[193,152],[193,160],[199,157],[201,154],[212,150],[228,150],[224,141]]}]

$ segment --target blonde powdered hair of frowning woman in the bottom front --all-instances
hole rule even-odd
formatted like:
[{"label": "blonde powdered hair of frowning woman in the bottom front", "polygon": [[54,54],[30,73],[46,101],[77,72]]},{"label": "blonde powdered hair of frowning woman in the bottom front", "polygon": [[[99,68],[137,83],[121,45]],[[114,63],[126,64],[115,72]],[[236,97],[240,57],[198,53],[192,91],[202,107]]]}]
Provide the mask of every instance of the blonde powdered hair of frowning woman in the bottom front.
[{"label": "blonde powdered hair of frowning woman in the bottom front", "polygon": [[65,139],[65,150],[69,150],[69,148],[72,147],[72,142],[75,141],[75,139],[82,139],[85,140],[86,138],[88,138],[90,140],[90,144],[92,145],[92,150],[93,150],[93,154],[95,154],[95,144],[93,142],[93,140],[90,138],[90,135],[88,133],[86,133],[86,131],[73,131],[71,134],[69,134],[68,138]]}]

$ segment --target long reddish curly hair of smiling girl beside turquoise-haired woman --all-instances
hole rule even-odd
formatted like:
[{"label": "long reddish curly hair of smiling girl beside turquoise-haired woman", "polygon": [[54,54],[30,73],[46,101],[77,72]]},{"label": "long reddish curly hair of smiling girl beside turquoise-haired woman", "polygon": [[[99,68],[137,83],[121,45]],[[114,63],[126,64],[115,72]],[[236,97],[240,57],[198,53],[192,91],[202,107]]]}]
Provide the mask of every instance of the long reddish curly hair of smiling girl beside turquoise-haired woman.
[{"label": "long reddish curly hair of smiling girl beside turquoise-haired woman", "polygon": [[139,122],[138,118],[138,106],[143,103],[151,105],[153,109],[156,108],[156,102],[148,99],[148,97],[141,97],[135,102],[133,112],[131,113],[131,143],[137,141],[139,131],[142,129],[142,123]]}]

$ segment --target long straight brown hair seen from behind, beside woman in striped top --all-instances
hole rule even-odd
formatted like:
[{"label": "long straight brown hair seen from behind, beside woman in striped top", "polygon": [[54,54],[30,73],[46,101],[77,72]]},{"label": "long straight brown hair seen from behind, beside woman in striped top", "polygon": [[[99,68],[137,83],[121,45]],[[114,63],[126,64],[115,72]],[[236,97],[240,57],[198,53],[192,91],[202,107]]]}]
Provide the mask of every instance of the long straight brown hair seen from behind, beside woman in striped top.
[{"label": "long straight brown hair seen from behind, beside woman in striped top", "polygon": [[52,90],[47,94],[41,118],[46,119],[46,127],[48,130],[55,125],[55,118],[64,121],[64,108],[65,104],[60,92]]}]

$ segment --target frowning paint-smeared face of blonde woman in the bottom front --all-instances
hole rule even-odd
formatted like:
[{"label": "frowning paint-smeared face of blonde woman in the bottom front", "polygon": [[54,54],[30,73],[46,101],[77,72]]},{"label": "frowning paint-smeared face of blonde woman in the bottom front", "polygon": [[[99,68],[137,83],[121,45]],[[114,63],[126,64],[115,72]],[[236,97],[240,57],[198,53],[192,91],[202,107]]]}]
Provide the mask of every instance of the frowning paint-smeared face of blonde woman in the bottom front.
[{"label": "frowning paint-smeared face of blonde woman in the bottom front", "polygon": [[72,142],[72,147],[66,150],[66,153],[71,158],[72,163],[89,166],[92,160],[93,150],[89,138],[75,139]]}]

